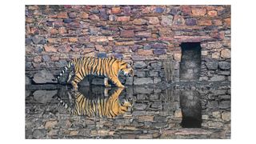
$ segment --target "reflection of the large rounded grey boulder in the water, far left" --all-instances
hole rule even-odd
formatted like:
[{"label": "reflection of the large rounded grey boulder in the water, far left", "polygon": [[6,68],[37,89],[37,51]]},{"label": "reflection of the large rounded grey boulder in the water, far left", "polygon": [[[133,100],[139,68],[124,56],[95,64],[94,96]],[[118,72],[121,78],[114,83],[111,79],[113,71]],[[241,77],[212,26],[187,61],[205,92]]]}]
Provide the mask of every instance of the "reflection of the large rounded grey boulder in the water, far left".
[{"label": "reflection of the large rounded grey boulder in the water, far left", "polygon": [[58,90],[36,90],[34,91],[34,99],[40,103],[47,103],[52,100],[52,97],[58,93]]}]

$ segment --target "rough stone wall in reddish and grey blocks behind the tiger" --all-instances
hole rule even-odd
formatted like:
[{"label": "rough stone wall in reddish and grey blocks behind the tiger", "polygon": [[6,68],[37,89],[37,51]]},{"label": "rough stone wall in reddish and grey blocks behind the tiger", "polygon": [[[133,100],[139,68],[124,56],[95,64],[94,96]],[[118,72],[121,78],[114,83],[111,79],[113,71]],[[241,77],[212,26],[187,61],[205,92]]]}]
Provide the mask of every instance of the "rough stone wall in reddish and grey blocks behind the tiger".
[{"label": "rough stone wall in reddish and grey blocks behind the tiger", "polygon": [[230,6],[26,6],[26,83],[83,55],[133,61],[129,84],[179,82],[182,42],[200,42],[200,81],[230,81]]}]

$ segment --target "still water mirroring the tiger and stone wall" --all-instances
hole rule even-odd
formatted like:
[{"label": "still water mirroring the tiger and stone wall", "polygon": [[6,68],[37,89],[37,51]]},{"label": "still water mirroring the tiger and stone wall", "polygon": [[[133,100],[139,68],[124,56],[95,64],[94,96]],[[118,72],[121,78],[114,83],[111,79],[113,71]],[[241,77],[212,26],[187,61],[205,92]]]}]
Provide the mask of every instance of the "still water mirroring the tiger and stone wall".
[{"label": "still water mirroring the tiger and stone wall", "polygon": [[230,138],[230,84],[26,86],[26,138]]}]

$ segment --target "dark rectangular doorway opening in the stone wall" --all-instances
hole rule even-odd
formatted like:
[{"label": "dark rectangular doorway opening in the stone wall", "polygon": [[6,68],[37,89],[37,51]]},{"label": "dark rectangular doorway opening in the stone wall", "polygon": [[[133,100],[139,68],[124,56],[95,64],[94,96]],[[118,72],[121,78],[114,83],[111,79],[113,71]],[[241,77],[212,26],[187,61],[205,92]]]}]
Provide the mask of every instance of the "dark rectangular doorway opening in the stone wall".
[{"label": "dark rectangular doorway opening in the stone wall", "polygon": [[201,70],[201,46],[200,42],[183,42],[182,60],[180,63],[180,81],[198,81]]}]

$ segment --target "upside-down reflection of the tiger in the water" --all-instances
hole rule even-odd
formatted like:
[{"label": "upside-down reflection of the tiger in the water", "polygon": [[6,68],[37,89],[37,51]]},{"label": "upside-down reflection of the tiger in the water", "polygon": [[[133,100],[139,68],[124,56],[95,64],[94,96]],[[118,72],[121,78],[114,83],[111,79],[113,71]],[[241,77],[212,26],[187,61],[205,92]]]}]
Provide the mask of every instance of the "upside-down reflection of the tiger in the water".
[{"label": "upside-down reflection of the tiger in the water", "polygon": [[73,95],[68,92],[67,94],[69,95],[70,104],[73,106],[69,106],[66,102],[62,101],[61,98],[57,98],[70,114],[76,116],[86,115],[88,117],[98,116],[100,118],[115,118],[119,114],[126,113],[132,106],[130,100],[119,98],[123,89],[124,88],[117,88],[110,97],[107,97],[110,88],[105,88],[104,98],[86,98],[82,92],[72,91]]}]

